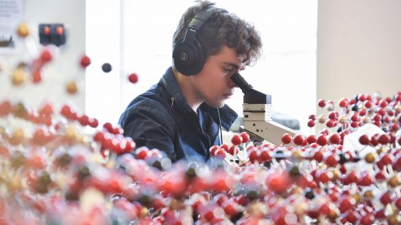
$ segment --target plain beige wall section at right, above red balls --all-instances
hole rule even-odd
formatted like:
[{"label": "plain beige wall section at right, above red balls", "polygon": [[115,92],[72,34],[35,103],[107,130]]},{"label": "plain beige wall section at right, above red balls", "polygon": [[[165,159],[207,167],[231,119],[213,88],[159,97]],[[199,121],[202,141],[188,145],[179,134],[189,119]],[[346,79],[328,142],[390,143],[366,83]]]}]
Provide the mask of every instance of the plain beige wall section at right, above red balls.
[{"label": "plain beige wall section at right, above red balls", "polygon": [[401,1],[319,0],[317,99],[401,90]]}]

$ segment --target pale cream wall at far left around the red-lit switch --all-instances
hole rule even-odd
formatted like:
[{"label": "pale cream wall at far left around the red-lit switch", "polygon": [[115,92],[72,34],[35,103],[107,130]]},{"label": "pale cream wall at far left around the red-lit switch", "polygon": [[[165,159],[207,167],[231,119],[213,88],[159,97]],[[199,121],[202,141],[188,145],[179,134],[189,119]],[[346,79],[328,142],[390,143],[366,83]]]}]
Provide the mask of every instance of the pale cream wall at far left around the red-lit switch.
[{"label": "pale cream wall at far left around the red-lit switch", "polygon": [[[84,0],[25,0],[23,21],[29,24],[31,35],[25,40],[29,51],[23,46],[21,53],[0,55],[3,71],[0,72],[0,102],[4,99],[23,99],[27,105],[36,107],[51,101],[56,106],[62,103],[75,105],[80,111],[85,108],[85,77],[79,60],[85,52],[85,1]],[[16,21],[16,25],[21,21]],[[32,84],[31,75],[27,83],[14,87],[11,75],[21,60],[29,63],[38,57],[42,46],[39,44],[39,23],[63,23],[66,29],[66,44],[54,55],[54,60],[42,71],[42,82]],[[17,27],[15,27],[15,30]],[[32,54],[32,57],[31,55]],[[77,94],[66,94],[66,83],[75,80]]]}]

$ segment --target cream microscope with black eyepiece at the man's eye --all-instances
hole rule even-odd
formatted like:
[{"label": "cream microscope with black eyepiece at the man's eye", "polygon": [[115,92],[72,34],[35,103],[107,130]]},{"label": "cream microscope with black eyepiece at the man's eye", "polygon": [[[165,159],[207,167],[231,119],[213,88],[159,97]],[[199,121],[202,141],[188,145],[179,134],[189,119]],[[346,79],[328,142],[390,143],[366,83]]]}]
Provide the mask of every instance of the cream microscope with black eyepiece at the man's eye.
[{"label": "cream microscope with black eyepiece at the man's eye", "polygon": [[254,145],[262,144],[263,140],[272,144],[282,144],[284,133],[293,136],[297,131],[284,127],[272,119],[271,95],[254,90],[237,72],[231,77],[232,81],[242,90],[243,96],[243,126],[240,131],[247,132]]}]

